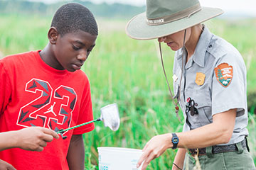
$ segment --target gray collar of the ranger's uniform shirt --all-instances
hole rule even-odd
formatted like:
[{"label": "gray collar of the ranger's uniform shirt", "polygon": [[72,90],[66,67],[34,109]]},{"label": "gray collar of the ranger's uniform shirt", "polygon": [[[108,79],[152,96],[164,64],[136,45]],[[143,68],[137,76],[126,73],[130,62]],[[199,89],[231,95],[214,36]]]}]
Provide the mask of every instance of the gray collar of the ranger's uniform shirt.
[{"label": "gray collar of the ranger's uniform shirt", "polygon": [[[198,40],[198,44],[196,45],[196,50],[194,54],[191,56],[191,60],[188,61],[186,64],[186,68],[189,68],[192,66],[193,62],[196,62],[200,67],[205,66],[205,56],[206,56],[206,50],[210,44],[210,40],[213,37],[213,34],[210,33],[210,30],[206,28],[206,26],[203,25],[203,33],[201,33],[201,36]],[[176,52],[176,59],[178,61],[178,64],[182,65],[182,48]],[[193,60],[193,62],[192,62]]]}]

